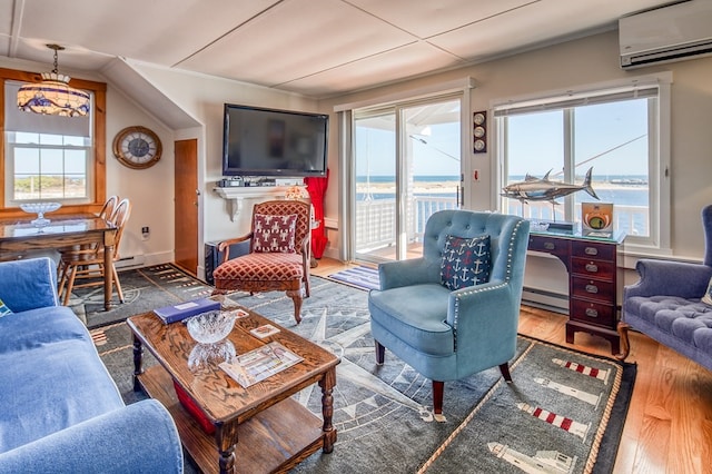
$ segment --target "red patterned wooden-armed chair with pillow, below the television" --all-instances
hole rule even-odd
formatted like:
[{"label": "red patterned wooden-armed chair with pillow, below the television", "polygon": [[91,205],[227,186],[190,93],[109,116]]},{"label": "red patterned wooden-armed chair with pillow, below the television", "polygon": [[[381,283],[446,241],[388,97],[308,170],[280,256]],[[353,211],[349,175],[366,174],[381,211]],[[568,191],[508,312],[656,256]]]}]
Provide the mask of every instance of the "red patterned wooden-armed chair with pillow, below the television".
[{"label": "red patterned wooden-armed chair with pillow, below the television", "polygon": [[[296,220],[289,216],[296,216]],[[251,223],[249,234],[218,244],[224,260],[212,273],[212,294],[286,292],[294,302],[294,318],[298,324],[303,295],[309,297],[312,205],[300,200],[259,203],[253,208]],[[230,245],[246,240],[249,240],[249,253],[230,259]]]}]

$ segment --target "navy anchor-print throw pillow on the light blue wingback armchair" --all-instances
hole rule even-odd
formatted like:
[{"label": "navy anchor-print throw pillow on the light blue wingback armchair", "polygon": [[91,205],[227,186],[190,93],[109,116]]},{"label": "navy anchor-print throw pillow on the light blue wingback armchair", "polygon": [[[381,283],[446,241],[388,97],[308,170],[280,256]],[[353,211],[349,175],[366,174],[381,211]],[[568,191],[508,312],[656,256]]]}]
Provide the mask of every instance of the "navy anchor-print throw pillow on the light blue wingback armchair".
[{"label": "navy anchor-print throw pillow on the light blue wingback armchair", "polygon": [[490,236],[447,236],[441,263],[441,284],[454,290],[490,282]]}]

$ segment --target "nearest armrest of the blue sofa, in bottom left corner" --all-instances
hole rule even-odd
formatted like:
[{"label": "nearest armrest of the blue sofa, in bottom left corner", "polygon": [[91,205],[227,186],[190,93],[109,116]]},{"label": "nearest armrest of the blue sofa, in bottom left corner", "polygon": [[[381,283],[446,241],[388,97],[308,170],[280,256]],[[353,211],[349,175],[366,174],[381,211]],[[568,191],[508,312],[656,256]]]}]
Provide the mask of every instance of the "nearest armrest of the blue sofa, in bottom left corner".
[{"label": "nearest armrest of the blue sofa, in bottom left corner", "polygon": [[0,454],[0,472],[182,473],[168,411],[146,399]]}]

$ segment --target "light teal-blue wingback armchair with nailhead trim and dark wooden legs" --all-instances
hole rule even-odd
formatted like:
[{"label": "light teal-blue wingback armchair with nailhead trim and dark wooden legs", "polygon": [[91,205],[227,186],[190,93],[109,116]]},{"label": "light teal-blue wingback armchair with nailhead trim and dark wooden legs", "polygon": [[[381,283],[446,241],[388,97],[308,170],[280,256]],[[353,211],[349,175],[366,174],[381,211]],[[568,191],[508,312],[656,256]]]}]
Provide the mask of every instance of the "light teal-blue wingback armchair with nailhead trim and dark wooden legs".
[{"label": "light teal-blue wingback armchair with nailhead trim and dark wooden legs", "polygon": [[[426,223],[423,257],[378,266],[380,290],[368,295],[376,362],[383,364],[387,347],[431,378],[436,415],[443,413],[444,382],[495,366],[512,379],[528,234],[528,221],[516,216],[441,210]],[[459,289],[443,284],[453,286],[448,236],[490,237],[485,283]]]}]

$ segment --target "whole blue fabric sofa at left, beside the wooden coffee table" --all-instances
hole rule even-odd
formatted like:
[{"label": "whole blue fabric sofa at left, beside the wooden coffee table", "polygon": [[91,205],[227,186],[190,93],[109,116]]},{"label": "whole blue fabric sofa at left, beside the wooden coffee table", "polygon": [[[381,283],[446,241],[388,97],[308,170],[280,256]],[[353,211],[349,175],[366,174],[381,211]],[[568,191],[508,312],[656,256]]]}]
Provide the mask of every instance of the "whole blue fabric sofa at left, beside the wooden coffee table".
[{"label": "whole blue fabric sofa at left, beside the wooden coffee table", "polygon": [[0,472],[182,473],[172,418],[126,406],[49,258],[0,263]]}]

